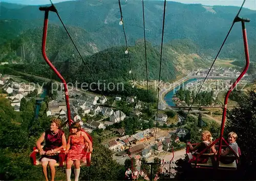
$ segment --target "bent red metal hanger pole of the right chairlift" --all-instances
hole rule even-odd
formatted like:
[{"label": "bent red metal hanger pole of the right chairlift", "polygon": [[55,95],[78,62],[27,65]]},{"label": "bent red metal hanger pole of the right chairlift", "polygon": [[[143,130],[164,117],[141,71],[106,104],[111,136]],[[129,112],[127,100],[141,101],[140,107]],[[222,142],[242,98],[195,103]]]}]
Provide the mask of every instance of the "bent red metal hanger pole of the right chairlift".
[{"label": "bent red metal hanger pole of the right chairlift", "polygon": [[[222,122],[221,122],[221,134],[220,134],[220,142],[219,142],[218,161],[220,161],[220,156],[221,156],[221,146],[222,146],[222,138],[223,138],[223,133],[224,133],[224,127],[225,127],[225,119],[226,119],[226,112],[227,112],[228,96],[229,96],[230,92],[234,89],[234,87],[236,87],[236,85],[241,80],[241,78],[246,73],[246,71],[248,70],[249,62],[250,62],[248,42],[247,42],[247,34],[246,34],[246,29],[245,29],[245,20],[241,19],[239,17],[236,17],[236,18],[238,19],[237,21],[241,21],[242,22],[242,31],[243,31],[243,39],[244,39],[244,50],[245,50],[246,64],[245,64],[244,70],[239,75],[239,77],[237,78],[236,82],[234,82],[232,84],[232,86],[229,88],[229,90],[228,90],[228,92],[227,92],[227,94],[225,96],[224,108],[223,108],[223,114],[222,114]],[[246,20],[246,21],[248,22],[248,20]]]}]

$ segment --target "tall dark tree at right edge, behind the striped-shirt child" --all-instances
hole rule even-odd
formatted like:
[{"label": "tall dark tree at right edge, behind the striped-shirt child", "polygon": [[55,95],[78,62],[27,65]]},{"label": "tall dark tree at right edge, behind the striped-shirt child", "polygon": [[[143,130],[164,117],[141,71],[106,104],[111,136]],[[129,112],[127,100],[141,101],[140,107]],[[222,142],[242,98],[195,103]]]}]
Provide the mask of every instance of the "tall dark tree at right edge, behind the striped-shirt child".
[{"label": "tall dark tree at right edge, behind the striped-shirt child", "polygon": [[242,150],[243,166],[246,171],[244,179],[255,179],[256,166],[255,148],[256,144],[256,87],[255,84],[247,95],[238,101],[238,106],[227,112],[225,135],[235,132],[238,135],[237,143]]}]

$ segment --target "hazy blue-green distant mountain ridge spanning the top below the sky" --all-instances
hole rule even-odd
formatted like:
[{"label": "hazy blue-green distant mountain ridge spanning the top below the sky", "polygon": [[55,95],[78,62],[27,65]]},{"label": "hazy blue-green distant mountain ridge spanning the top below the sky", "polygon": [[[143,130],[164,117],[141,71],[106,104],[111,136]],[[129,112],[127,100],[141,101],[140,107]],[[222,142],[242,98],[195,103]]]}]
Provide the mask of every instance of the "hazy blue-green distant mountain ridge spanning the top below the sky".
[{"label": "hazy blue-green distant mountain ridge spanning the top below the sky", "polygon": [[[153,45],[161,43],[163,5],[162,1],[145,1],[146,39]],[[31,22],[39,21],[42,25],[44,13],[38,6],[26,6],[19,9],[1,8],[2,20],[19,19]],[[143,38],[142,4],[140,1],[121,1],[124,25],[129,45]],[[120,12],[118,1],[71,1],[56,4],[60,16],[67,25],[83,28],[91,34],[94,42],[100,42],[103,50],[117,45],[124,45],[122,27],[118,25]],[[167,2],[165,16],[164,42],[173,39],[191,39],[201,53],[216,55],[239,7],[206,7],[200,4],[181,4]],[[249,46],[256,45],[253,38],[256,32],[255,11],[242,9],[241,17],[250,18],[246,24]],[[59,23],[57,16],[50,13],[50,23]],[[36,23],[35,23],[36,24]],[[255,56],[251,51],[251,58]],[[241,24],[236,23],[224,46],[220,57],[244,59]]]}]

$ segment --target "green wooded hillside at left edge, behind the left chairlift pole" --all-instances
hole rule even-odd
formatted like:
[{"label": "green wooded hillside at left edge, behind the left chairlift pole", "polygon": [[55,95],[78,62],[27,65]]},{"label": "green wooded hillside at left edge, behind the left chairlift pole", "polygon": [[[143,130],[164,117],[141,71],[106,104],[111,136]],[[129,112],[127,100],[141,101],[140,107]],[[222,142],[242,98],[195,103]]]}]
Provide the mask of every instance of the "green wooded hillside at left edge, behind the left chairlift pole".
[{"label": "green wooded hillside at left edge, behind the left chairlift pole", "polygon": [[[92,55],[98,51],[91,34],[87,31],[70,26],[68,30],[73,35],[73,39],[83,55]],[[29,63],[44,62],[41,56],[41,41],[42,28],[29,29],[1,45],[0,60],[2,62],[15,60],[15,56],[17,56]],[[59,61],[63,61],[76,54],[76,50],[65,30],[58,25],[51,24],[47,36],[47,54],[51,58],[56,56],[56,53],[58,53]]]}]

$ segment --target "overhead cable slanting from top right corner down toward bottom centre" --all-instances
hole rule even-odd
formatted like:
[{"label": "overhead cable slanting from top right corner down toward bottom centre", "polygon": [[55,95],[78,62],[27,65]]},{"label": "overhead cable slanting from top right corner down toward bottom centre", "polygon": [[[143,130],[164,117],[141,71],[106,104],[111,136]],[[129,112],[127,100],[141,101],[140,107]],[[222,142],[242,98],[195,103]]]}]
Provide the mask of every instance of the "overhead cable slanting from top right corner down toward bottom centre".
[{"label": "overhead cable slanting from top right corner down toward bottom centre", "polygon": [[[239,14],[240,14],[240,12],[241,12],[243,6],[244,6],[245,1],[246,1],[246,0],[243,1],[243,4],[241,5],[241,7],[240,7],[240,9],[239,9],[239,11],[238,11],[236,17],[239,16]],[[180,130],[181,130],[182,125],[185,123],[185,119],[187,118],[187,115],[188,115],[189,111],[191,110],[191,108],[192,108],[192,106],[193,106],[193,104],[194,104],[194,102],[195,102],[195,100],[196,100],[196,98],[197,98],[197,96],[198,96],[198,94],[199,94],[199,92],[200,92],[200,90],[201,90],[201,88],[202,88],[204,82],[205,82],[206,79],[207,79],[207,76],[209,75],[209,73],[210,73],[210,71],[211,71],[211,68],[214,66],[214,64],[215,64],[215,62],[216,62],[216,60],[217,60],[217,58],[218,58],[218,56],[219,56],[219,54],[220,54],[220,52],[221,52],[223,46],[224,46],[224,44],[225,44],[225,42],[226,42],[226,40],[227,40],[227,38],[228,38],[228,36],[229,36],[229,34],[230,34],[232,28],[233,28],[234,23],[236,22],[236,21],[235,21],[236,17],[234,18],[234,20],[233,20],[233,22],[232,22],[232,25],[231,25],[231,27],[230,27],[230,29],[229,29],[229,31],[228,31],[228,33],[227,33],[227,35],[226,35],[226,37],[225,37],[225,39],[224,39],[222,45],[221,45],[221,47],[220,47],[220,49],[219,49],[219,51],[218,51],[218,53],[217,53],[217,55],[216,55],[216,57],[215,57],[215,59],[214,59],[214,62],[212,62],[211,66],[210,66],[210,69],[209,69],[208,73],[206,74],[203,83],[202,83],[201,86],[200,86],[200,89],[198,90],[198,92],[197,92],[195,98],[193,99],[193,102],[192,102],[192,104],[191,104],[189,110],[187,111],[187,114],[186,114],[186,116],[184,117],[184,120],[182,121],[182,124],[180,125],[179,129],[177,129],[177,131],[176,131],[176,133],[175,133],[174,140],[173,140],[172,143],[168,146],[168,148],[171,147],[172,144],[175,142],[175,140],[176,140],[176,138],[177,138],[177,135],[178,135],[178,133],[179,133]],[[167,152],[168,152],[168,151],[165,152],[164,157],[166,156]],[[164,159],[164,157],[163,157],[163,159]]]}]

